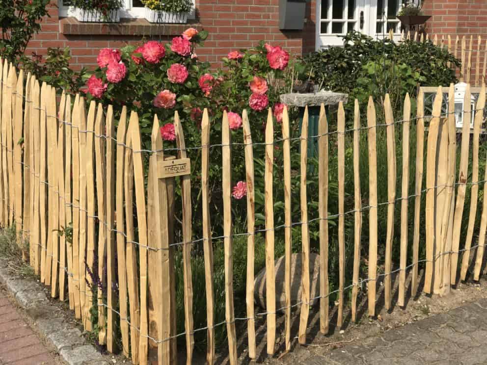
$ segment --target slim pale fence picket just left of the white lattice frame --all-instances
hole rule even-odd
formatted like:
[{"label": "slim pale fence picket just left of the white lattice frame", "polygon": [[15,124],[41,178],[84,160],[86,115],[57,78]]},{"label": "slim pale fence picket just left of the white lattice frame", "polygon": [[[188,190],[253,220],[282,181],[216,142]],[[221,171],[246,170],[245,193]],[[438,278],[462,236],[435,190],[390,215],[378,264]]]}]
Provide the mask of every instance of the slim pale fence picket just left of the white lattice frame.
[{"label": "slim pale fence picket just left of the white lattice frame", "polygon": [[407,208],[409,195],[409,120],[411,118],[411,100],[406,94],[403,106],[403,176],[402,176],[402,201],[401,201],[401,256],[399,273],[399,299],[398,304],[405,305],[406,295],[406,264],[407,264]]}]

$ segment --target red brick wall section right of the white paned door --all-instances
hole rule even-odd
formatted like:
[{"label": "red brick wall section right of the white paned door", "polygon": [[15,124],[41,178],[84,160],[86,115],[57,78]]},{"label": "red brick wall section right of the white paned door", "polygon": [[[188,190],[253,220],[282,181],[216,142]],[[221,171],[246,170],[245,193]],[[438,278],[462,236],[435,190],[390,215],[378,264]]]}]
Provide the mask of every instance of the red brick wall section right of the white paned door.
[{"label": "red brick wall section right of the white paned door", "polygon": [[[471,82],[475,81],[475,70],[477,67],[478,36],[482,38],[480,52],[480,73],[483,71],[484,58],[486,54],[487,40],[487,1],[486,0],[425,0],[423,12],[432,15],[427,22],[427,32],[430,35],[437,34],[441,39],[446,40],[451,36],[452,43],[455,43],[457,36],[465,36],[466,47],[469,48],[470,36],[472,42],[472,72]],[[457,57],[460,58],[460,51]],[[480,77],[479,77],[480,79]]]}]

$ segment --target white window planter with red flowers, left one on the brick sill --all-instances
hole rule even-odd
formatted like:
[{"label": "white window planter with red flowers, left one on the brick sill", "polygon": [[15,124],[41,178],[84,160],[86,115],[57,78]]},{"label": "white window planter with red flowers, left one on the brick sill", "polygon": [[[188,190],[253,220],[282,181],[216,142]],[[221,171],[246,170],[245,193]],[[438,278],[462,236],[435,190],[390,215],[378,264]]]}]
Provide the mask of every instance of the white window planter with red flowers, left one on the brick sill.
[{"label": "white window planter with red flowers, left one on the brick sill", "polygon": [[74,0],[75,17],[83,23],[120,22],[121,0]]}]

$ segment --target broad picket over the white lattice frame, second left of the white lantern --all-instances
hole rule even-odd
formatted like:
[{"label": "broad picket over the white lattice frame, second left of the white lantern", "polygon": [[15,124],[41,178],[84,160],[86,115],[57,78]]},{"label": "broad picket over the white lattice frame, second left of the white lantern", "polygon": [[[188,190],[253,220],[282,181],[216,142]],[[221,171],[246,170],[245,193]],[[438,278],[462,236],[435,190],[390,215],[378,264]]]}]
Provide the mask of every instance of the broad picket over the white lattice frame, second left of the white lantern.
[{"label": "broad picket over the white lattice frame, second left of the white lantern", "polygon": [[435,177],[436,177],[436,148],[438,141],[438,128],[441,115],[442,89],[438,87],[433,102],[433,117],[430,121],[428,130],[428,155],[426,156],[426,270],[425,286],[426,293],[433,291],[433,273],[434,273],[434,245],[435,245],[435,225],[434,225],[434,207],[435,207]]}]

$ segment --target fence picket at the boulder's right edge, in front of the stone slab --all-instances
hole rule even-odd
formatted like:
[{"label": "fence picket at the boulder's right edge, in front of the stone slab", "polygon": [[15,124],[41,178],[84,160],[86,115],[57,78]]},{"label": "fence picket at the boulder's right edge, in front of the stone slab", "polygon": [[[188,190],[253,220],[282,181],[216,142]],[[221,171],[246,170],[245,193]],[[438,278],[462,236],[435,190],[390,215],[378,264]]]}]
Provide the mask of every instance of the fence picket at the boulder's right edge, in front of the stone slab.
[{"label": "fence picket at the boulder's right edge, in front of the stone slab", "polygon": [[[318,210],[320,214],[320,331],[321,333],[326,334],[329,328],[330,288],[328,282],[328,121],[326,120],[324,104],[321,104],[320,107],[318,134],[320,135],[318,138]],[[291,190],[291,176],[289,176],[289,185],[289,189]],[[291,207],[289,207],[289,222],[286,223],[286,226],[288,225],[291,226]],[[289,280],[291,281],[291,242],[289,243],[289,250]],[[289,288],[291,290],[291,283],[289,284]],[[291,299],[289,300],[289,303],[291,304]]]}]

